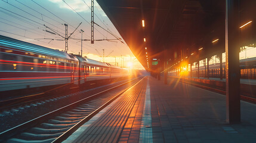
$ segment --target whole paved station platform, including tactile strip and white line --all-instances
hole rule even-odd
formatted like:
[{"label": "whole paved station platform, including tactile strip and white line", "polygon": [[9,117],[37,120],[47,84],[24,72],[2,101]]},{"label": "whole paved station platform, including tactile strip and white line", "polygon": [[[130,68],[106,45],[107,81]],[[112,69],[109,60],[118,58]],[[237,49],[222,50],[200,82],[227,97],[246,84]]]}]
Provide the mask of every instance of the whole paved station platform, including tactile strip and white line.
[{"label": "whole paved station platform, including tactile strip and white line", "polygon": [[144,77],[64,142],[255,142],[256,105],[226,123],[226,97],[183,82]]}]

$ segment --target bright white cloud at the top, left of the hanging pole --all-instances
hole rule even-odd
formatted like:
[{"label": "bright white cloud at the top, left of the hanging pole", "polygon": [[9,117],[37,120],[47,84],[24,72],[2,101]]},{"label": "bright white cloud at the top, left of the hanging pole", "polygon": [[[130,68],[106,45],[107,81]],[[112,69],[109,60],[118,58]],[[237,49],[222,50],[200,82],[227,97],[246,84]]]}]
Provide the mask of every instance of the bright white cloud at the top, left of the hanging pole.
[{"label": "bright white cloud at the top, left of the hanging pole", "polygon": [[[78,13],[81,13],[81,12],[89,13],[89,12],[91,12],[91,10],[89,8],[89,7],[91,7],[91,2],[88,1],[88,0],[82,0],[82,1],[64,0],[68,5],[65,4],[65,2],[63,2],[63,0],[49,0],[49,1],[57,4],[60,8],[66,8],[66,9],[69,9],[69,10],[72,10],[72,8],[73,8]],[[85,4],[85,2],[89,7]],[[69,5],[72,8],[70,8]]]}]

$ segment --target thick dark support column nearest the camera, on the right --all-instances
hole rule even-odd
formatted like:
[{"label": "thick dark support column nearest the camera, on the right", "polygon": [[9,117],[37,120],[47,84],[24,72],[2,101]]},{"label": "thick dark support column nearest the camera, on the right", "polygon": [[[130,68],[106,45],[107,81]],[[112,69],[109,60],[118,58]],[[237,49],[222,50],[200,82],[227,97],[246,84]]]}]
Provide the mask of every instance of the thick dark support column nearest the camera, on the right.
[{"label": "thick dark support column nearest the camera, on the right", "polygon": [[226,0],[226,120],[240,123],[239,0]]}]

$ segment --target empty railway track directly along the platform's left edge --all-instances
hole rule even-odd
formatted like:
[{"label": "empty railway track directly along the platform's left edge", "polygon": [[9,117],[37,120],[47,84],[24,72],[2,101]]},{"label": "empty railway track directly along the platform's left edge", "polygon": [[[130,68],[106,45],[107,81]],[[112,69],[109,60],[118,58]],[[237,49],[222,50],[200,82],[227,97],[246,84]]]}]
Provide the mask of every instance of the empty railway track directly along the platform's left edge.
[{"label": "empty railway track directly along the platform's left edge", "polygon": [[[131,84],[133,86],[140,79],[132,79],[129,82],[134,82]],[[106,89],[5,130],[0,133],[0,142],[60,142],[129,89],[131,86],[122,91],[118,89],[129,82]],[[117,92],[118,94],[116,94]],[[113,96],[113,94],[115,95]]]}]

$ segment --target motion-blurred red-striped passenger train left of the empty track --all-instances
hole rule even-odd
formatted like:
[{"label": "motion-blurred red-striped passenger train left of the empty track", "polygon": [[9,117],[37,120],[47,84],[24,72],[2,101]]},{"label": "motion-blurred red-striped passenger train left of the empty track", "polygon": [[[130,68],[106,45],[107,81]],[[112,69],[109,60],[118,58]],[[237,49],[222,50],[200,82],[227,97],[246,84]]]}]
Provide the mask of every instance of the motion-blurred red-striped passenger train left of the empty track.
[{"label": "motion-blurred red-striped passenger train left of the empty track", "polygon": [[0,91],[128,76],[128,70],[0,35]]}]

